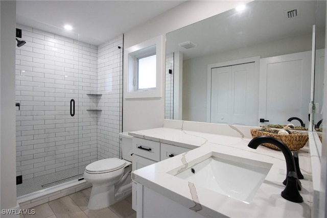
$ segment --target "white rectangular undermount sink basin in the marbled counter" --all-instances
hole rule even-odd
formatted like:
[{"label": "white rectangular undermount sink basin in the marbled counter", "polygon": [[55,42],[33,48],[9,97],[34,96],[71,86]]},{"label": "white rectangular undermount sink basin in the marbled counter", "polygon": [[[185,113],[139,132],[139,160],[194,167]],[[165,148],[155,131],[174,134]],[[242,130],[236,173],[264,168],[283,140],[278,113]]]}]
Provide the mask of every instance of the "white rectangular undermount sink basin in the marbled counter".
[{"label": "white rectangular undermount sink basin in the marbled counter", "polygon": [[188,162],[187,168],[174,176],[246,203],[255,196],[272,166],[216,152]]}]

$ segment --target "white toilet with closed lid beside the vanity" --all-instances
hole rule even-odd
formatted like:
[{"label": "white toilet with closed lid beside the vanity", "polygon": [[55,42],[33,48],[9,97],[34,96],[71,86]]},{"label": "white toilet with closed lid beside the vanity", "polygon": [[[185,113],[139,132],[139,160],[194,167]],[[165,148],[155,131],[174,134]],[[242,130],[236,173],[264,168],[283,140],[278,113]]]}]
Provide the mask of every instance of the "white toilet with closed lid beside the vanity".
[{"label": "white toilet with closed lid beside the vanity", "polygon": [[84,179],[92,183],[88,209],[99,210],[119,202],[132,192],[132,136],[119,133],[122,157],[107,158],[88,164]]}]

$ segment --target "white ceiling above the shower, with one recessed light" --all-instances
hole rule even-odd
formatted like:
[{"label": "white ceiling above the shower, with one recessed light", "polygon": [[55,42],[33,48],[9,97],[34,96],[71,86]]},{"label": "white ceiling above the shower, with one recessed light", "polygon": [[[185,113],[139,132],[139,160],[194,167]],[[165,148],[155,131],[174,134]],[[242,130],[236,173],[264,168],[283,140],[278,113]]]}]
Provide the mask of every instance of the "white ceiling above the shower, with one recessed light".
[{"label": "white ceiling above the shower, with one recessed light", "polygon": [[[17,1],[16,22],[99,45],[183,2]],[[63,30],[67,24],[71,33]]]}]

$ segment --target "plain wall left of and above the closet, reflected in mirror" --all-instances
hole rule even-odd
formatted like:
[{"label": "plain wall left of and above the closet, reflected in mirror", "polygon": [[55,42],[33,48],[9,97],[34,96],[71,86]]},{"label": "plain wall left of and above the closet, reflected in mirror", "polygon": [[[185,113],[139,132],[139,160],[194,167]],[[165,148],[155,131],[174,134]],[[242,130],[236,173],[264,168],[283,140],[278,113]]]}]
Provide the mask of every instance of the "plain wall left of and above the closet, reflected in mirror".
[{"label": "plain wall left of and above the closet, reflected in mirror", "polygon": [[183,120],[206,122],[207,65],[241,58],[261,58],[310,51],[312,35],[283,39],[183,62]]}]

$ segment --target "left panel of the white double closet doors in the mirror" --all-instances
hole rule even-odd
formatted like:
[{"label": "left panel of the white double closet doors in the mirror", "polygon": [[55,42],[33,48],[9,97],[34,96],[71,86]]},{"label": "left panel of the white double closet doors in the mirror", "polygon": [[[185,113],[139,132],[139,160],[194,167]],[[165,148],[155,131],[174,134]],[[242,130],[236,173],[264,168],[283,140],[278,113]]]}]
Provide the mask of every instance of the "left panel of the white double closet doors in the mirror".
[{"label": "left panel of the white double closet doors in the mirror", "polygon": [[212,68],[211,123],[230,124],[231,66]]}]

